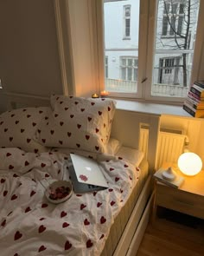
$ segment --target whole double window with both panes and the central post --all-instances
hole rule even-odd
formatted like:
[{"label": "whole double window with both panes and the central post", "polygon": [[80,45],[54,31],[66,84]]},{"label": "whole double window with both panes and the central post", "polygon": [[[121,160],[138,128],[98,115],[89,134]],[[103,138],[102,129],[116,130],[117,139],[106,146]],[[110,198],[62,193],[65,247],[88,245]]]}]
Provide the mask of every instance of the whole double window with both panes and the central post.
[{"label": "whole double window with both panes and the central post", "polygon": [[104,55],[110,60],[105,89],[112,96],[183,102],[191,81],[198,79],[196,69],[201,69],[204,31],[198,16],[204,16],[204,8],[200,10],[200,1],[123,3],[104,0]]}]

